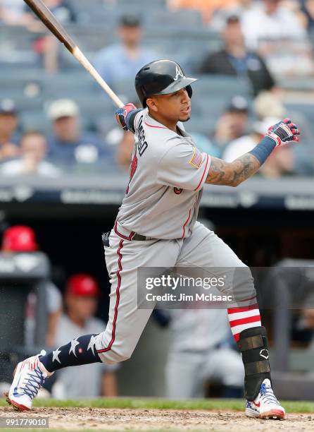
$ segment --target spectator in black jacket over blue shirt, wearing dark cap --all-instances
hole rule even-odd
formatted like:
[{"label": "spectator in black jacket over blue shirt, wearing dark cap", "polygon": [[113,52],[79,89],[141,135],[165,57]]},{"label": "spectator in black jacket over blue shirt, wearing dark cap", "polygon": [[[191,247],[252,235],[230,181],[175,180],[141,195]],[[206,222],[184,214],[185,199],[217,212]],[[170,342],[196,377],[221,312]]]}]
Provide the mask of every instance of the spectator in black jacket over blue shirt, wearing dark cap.
[{"label": "spectator in black jacket over blue shirt, wearing dark cap", "polygon": [[212,73],[249,78],[255,95],[269,90],[275,82],[263,59],[246,49],[239,17],[229,16],[222,32],[224,49],[209,54],[203,61],[201,73]]}]

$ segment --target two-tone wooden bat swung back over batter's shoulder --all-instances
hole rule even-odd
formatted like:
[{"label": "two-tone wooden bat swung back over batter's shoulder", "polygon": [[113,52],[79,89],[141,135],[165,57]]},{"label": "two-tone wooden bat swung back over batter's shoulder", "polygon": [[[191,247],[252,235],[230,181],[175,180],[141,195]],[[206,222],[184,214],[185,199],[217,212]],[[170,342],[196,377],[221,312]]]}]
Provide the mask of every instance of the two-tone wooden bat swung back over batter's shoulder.
[{"label": "two-tone wooden bat swung back over batter's shoulder", "polygon": [[77,61],[80,61],[80,64],[84,66],[84,68],[89,72],[92,77],[96,80],[97,83],[101,86],[101,88],[107,93],[109,97],[113,100],[113,102],[117,105],[118,108],[122,108],[124,103],[119,99],[115,92],[111,90],[106,81],[101,78],[99,73],[96,71],[94,66],[89,62],[89,60],[84,56],[82,51],[77,44],[73,42],[68,32],[63,28],[63,26],[58,23],[56,17],[53,13],[46,7],[46,5],[42,2],[42,0],[24,0],[28,6],[32,9],[32,11],[38,16],[39,20],[46,25],[46,28],[49,30],[60,40],[61,43],[64,44],[65,48],[70,51]]}]

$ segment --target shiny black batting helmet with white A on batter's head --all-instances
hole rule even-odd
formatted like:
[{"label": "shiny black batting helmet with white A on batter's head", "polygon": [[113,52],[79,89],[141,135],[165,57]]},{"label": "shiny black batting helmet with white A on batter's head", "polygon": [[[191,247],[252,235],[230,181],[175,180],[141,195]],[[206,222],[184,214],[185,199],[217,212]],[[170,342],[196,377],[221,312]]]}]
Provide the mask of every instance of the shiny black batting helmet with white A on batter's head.
[{"label": "shiny black batting helmet with white A on batter's head", "polygon": [[187,78],[179,64],[172,60],[152,61],[137,73],[135,77],[135,89],[137,95],[146,107],[147,97],[153,95],[169,95],[186,88],[189,97],[192,95],[191,83],[196,78]]}]

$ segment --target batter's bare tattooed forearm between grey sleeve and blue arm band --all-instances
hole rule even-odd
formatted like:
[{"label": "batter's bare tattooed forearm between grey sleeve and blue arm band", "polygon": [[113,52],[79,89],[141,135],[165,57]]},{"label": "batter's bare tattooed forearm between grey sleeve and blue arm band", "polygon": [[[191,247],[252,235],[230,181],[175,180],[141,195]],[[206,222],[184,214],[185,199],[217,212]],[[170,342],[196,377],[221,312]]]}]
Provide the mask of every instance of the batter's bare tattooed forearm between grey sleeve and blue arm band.
[{"label": "batter's bare tattooed forearm between grey sleeve and blue arm band", "polygon": [[233,162],[225,162],[217,157],[212,157],[206,183],[238,186],[242,181],[253,176],[259,167],[260,162],[250,153],[238,157]]}]

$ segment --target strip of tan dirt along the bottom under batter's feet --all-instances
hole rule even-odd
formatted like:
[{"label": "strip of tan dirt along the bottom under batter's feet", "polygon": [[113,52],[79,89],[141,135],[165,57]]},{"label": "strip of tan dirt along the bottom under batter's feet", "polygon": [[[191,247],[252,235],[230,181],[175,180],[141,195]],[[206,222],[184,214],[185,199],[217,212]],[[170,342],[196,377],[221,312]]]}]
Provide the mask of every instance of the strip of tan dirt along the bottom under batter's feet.
[{"label": "strip of tan dirt along the bottom under batter's feet", "polygon": [[314,431],[314,416],[289,414],[287,420],[247,419],[241,412],[168,409],[35,408],[16,412],[0,407],[0,416],[49,417],[49,428],[103,431]]}]

